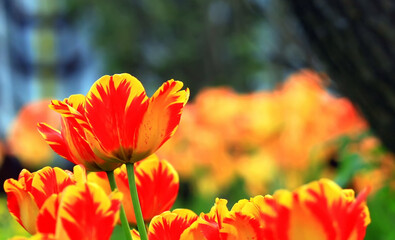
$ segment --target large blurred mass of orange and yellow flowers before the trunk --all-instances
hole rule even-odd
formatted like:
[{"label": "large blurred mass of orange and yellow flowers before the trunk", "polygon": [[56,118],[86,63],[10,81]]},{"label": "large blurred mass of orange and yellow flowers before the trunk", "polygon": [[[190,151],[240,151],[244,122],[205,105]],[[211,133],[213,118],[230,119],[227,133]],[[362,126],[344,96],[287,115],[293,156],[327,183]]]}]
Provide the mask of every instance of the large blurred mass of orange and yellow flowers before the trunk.
[{"label": "large blurred mass of orange and yellow flowers before the trunk", "polygon": [[324,76],[303,70],[273,91],[207,88],[186,106],[179,130],[158,155],[172,159],[184,178],[203,169],[193,179],[202,194],[218,194],[235,176],[251,195],[268,191],[279,178],[295,188],[305,183],[309,167],[337,153],[332,140],[367,129],[351,102],[325,84]]}]

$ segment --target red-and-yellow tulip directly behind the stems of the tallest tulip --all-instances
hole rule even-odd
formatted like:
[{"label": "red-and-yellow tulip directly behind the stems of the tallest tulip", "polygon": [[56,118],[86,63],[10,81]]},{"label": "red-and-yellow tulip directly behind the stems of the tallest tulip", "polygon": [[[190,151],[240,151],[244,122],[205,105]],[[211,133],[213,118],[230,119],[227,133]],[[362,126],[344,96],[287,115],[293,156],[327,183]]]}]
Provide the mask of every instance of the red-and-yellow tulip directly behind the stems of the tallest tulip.
[{"label": "red-and-yellow tulip directly behind the stems of the tallest tulip", "polygon": [[[173,206],[179,188],[178,174],[169,162],[159,160],[155,154],[137,162],[134,169],[143,218],[145,222],[149,222],[154,216]],[[125,165],[115,169],[114,175],[119,191],[124,194],[122,203],[128,221],[136,224]],[[88,181],[98,183],[107,193],[111,192],[104,172],[89,173]]]}]

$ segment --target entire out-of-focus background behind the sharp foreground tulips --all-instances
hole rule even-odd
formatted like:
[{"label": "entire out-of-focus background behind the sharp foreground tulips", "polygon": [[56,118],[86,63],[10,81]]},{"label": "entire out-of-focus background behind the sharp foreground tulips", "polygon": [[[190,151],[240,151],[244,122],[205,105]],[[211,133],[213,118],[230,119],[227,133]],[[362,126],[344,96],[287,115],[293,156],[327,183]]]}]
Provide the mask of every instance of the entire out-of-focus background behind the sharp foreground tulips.
[{"label": "entire out-of-focus background behind the sharp foreground tulips", "polygon": [[[181,177],[174,207],[327,177],[372,187],[366,239],[395,239],[394,16],[389,0],[1,0],[1,183],[71,167],[36,131],[59,126],[50,99],[104,74],[131,73],[149,96],[174,78],[192,95],[158,153]],[[0,232],[25,234],[5,199]]]}]

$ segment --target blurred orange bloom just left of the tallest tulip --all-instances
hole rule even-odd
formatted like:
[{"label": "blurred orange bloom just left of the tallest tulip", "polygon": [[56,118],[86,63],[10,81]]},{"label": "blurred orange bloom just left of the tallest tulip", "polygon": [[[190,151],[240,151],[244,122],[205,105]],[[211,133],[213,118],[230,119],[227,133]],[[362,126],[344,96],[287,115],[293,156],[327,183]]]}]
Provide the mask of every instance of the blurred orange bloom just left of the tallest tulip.
[{"label": "blurred orange bloom just left of the tallest tulip", "polygon": [[54,158],[51,148],[37,132],[37,122],[60,126],[59,116],[48,109],[48,102],[40,100],[23,106],[7,135],[10,153],[29,169],[48,165]]}]

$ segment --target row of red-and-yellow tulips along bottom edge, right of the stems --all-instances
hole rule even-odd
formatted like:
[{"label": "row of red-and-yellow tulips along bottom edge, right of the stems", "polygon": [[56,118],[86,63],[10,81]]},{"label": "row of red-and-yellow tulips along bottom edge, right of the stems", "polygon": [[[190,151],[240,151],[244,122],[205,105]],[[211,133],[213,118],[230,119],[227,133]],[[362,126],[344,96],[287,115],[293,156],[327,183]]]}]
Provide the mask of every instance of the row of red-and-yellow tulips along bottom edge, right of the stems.
[{"label": "row of red-and-yellow tulips along bottom edge, right of the stems", "polygon": [[[152,219],[149,239],[363,239],[370,223],[367,191],[355,198],[322,179],[293,192],[278,190],[237,202],[216,199],[209,213],[188,209],[164,212]],[[134,231],[138,236],[138,232]]]}]

